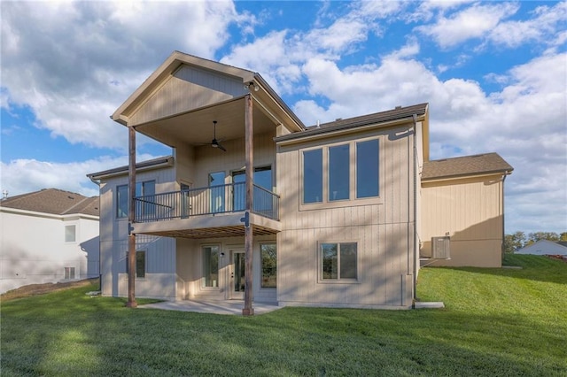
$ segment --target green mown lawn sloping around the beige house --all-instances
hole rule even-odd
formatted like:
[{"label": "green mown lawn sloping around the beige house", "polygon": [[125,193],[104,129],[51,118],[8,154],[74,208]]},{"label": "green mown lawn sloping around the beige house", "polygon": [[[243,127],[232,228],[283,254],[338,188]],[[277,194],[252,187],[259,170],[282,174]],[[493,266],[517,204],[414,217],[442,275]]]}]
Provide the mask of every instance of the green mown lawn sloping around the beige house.
[{"label": "green mown lawn sloping around the beige house", "polygon": [[424,268],[418,296],[446,309],[283,308],[255,317],[128,309],[70,289],[7,301],[11,375],[567,376],[567,263]]}]

